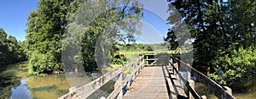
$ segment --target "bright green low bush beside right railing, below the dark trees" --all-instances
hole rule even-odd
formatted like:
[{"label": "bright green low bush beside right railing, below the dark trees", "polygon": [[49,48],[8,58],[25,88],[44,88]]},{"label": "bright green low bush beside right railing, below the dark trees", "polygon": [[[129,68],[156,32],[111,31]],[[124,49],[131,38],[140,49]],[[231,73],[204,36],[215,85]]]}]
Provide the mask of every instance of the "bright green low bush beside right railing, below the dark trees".
[{"label": "bright green low bush beside right railing, below the dark trees", "polygon": [[214,62],[215,70],[222,70],[222,74],[209,74],[213,80],[221,85],[236,85],[255,79],[256,50],[252,47],[233,50]]}]

